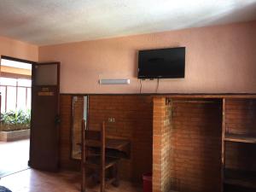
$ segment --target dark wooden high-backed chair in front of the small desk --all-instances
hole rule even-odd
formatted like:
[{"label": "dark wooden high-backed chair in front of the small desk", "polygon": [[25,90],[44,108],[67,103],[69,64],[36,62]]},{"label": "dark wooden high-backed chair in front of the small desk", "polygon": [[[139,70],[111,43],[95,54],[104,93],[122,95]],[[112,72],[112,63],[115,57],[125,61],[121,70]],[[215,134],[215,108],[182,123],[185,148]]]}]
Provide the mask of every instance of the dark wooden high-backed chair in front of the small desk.
[{"label": "dark wooden high-backed chair in front of the small desk", "polygon": [[[105,172],[109,168],[115,171],[114,177],[109,179],[108,182],[116,181],[118,183],[118,161],[119,159],[108,157],[106,155],[106,133],[105,122],[102,122],[101,131],[86,130],[84,120],[82,121],[82,160],[81,160],[81,173],[82,183],[81,191],[85,192],[85,179],[87,168],[99,172],[101,188],[100,191],[105,191]],[[94,149],[94,150],[93,150]],[[98,149],[98,150],[97,150]]]}]

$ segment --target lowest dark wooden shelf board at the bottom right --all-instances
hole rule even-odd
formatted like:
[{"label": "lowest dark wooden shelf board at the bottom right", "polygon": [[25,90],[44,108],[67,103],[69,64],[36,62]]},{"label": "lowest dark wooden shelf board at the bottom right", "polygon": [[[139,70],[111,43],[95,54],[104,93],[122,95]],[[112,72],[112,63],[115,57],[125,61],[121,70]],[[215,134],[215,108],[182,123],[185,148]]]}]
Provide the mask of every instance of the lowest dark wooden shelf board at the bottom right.
[{"label": "lowest dark wooden shelf board at the bottom right", "polygon": [[255,172],[241,172],[236,170],[227,170],[224,174],[224,183],[236,185],[244,188],[256,189]]}]

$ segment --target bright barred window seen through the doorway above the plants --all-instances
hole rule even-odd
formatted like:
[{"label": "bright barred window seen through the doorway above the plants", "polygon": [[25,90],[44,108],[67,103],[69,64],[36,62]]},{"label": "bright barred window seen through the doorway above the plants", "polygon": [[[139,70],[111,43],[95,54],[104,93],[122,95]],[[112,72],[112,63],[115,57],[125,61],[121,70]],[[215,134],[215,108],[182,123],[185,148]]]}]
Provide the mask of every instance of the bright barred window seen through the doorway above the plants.
[{"label": "bright barred window seen through the doorway above the plants", "polygon": [[0,78],[1,113],[31,108],[30,79]]}]

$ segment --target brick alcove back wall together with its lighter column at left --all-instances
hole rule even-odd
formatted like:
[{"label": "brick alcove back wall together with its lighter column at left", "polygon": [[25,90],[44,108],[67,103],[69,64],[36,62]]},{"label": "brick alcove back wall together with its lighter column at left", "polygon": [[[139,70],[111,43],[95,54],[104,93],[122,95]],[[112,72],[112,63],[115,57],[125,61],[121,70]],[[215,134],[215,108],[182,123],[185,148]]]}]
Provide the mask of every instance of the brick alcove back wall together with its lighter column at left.
[{"label": "brick alcove back wall together with its lighter column at left", "polygon": [[154,192],[220,190],[221,114],[220,102],[154,99]]}]

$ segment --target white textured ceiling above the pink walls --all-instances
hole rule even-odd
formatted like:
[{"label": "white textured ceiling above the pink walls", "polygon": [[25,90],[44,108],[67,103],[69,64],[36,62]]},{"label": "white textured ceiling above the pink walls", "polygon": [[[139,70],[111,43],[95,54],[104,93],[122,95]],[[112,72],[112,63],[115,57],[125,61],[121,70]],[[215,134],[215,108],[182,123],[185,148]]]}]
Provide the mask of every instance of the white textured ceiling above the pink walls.
[{"label": "white textured ceiling above the pink walls", "polygon": [[256,20],[256,0],[1,0],[0,36],[63,44]]}]

